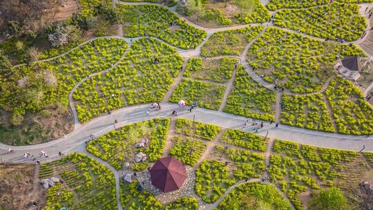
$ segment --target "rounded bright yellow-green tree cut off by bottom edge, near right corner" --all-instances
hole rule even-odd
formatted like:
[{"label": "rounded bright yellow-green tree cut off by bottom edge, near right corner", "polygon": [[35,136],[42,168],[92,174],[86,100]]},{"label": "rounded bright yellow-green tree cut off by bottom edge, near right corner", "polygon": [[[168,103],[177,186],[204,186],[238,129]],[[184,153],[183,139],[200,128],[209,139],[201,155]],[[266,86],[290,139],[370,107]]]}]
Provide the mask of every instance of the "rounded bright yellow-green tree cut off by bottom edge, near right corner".
[{"label": "rounded bright yellow-green tree cut off by bottom edge, near right corner", "polygon": [[308,202],[309,210],[350,210],[350,204],[347,203],[345,195],[341,189],[332,187],[322,189],[316,193]]}]

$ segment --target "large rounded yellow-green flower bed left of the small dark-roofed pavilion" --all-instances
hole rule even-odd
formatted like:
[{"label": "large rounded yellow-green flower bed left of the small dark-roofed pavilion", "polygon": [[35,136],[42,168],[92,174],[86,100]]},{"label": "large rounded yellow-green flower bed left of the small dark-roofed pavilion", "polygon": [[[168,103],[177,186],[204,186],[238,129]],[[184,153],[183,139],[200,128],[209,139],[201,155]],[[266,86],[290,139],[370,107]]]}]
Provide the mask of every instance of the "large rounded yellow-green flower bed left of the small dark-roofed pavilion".
[{"label": "large rounded yellow-green flower bed left of the small dark-roofed pavilion", "polygon": [[314,93],[333,75],[331,69],[338,53],[363,55],[354,45],[321,42],[269,27],[249,48],[247,62],[267,82],[277,81],[279,88]]}]

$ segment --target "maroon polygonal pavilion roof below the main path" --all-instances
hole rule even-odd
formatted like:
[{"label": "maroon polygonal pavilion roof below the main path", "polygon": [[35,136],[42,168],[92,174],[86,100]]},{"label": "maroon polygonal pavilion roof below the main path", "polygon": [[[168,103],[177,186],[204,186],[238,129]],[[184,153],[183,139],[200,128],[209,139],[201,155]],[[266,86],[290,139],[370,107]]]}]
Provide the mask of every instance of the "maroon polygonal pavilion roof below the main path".
[{"label": "maroon polygonal pavilion roof below the main path", "polygon": [[187,170],[180,160],[167,157],[160,158],[150,170],[151,184],[164,193],[180,189],[187,179]]}]

